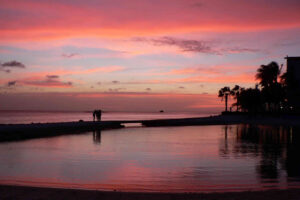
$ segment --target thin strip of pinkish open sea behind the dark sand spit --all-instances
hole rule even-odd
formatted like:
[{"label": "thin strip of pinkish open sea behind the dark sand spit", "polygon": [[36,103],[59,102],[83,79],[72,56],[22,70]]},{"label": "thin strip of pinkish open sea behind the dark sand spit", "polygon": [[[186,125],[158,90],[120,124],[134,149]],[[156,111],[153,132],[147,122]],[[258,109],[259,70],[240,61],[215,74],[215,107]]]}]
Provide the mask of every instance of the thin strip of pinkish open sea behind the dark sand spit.
[{"label": "thin strip of pinkish open sea behind the dark sand spit", "polygon": [[[217,113],[216,113],[217,114]],[[203,117],[208,113],[134,113],[134,112],[104,112],[102,120],[146,120]],[[92,112],[39,112],[39,111],[0,111],[0,124],[28,124],[44,122],[92,121]]]}]

